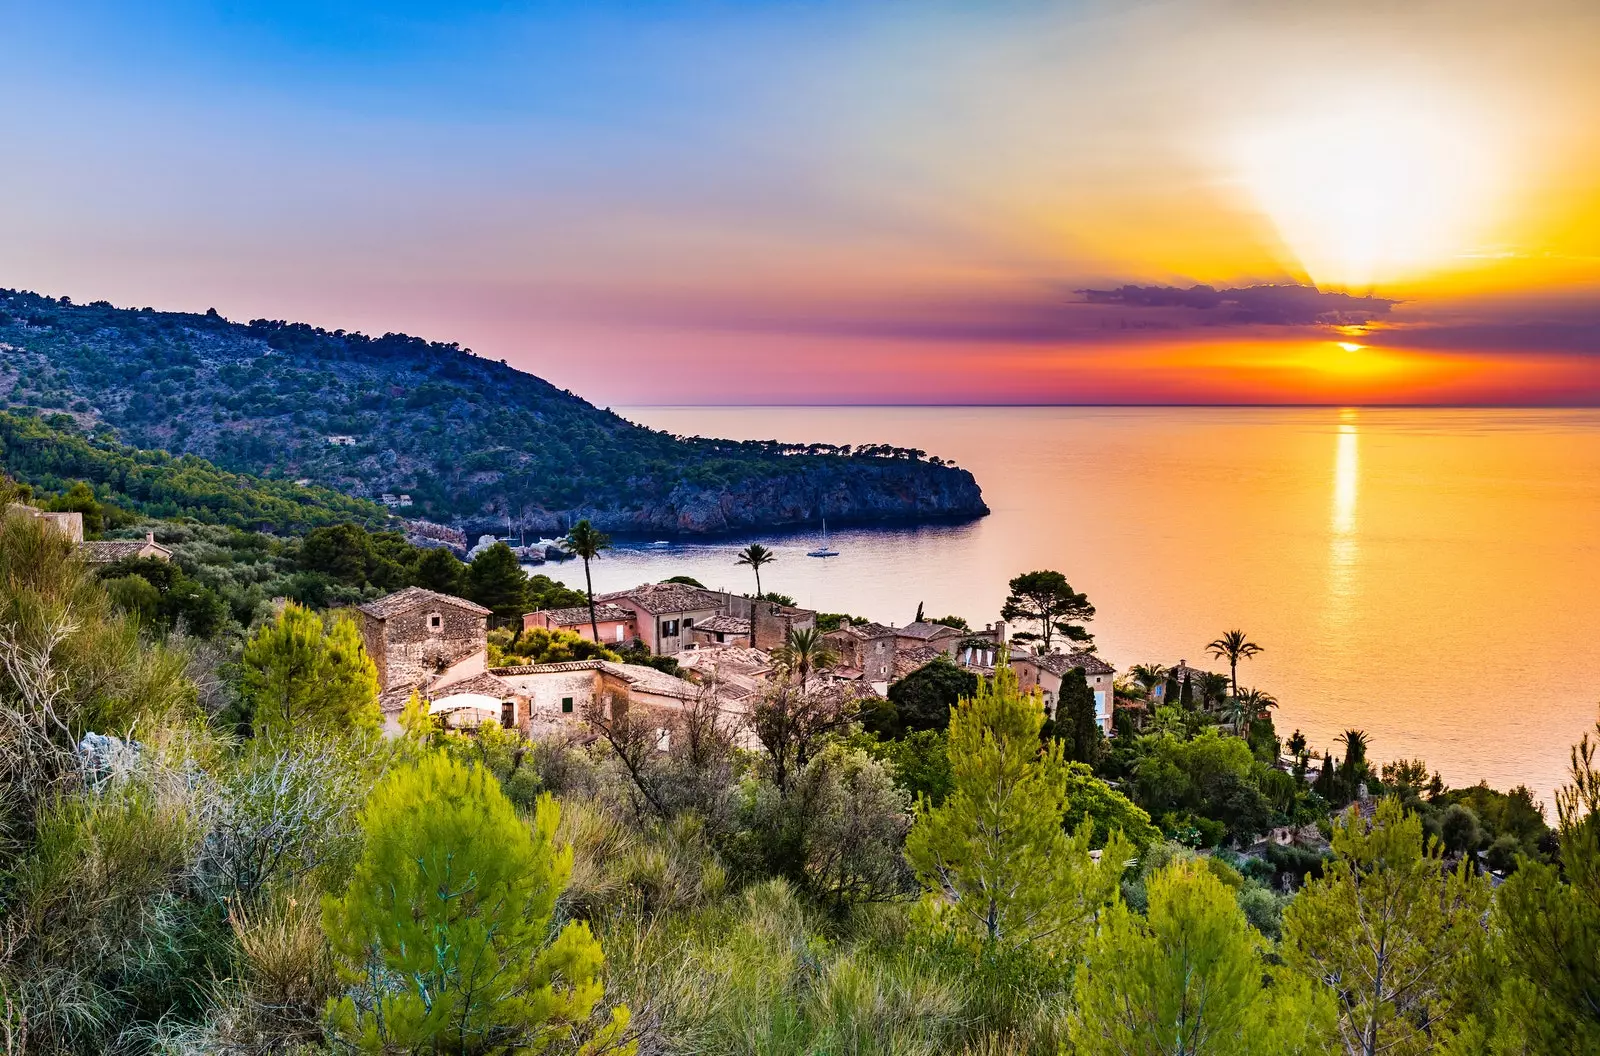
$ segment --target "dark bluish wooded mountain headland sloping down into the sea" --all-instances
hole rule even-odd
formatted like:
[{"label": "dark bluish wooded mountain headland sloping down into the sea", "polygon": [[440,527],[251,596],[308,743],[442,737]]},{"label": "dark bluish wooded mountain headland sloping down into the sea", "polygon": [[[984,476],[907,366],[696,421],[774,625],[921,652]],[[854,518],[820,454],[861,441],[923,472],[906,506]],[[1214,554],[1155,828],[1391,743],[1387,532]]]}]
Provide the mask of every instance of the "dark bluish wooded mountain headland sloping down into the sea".
[{"label": "dark bluish wooded mountain headland sloping down into the sea", "polygon": [[[603,368],[598,368],[603,370]],[[922,451],[685,438],[456,344],[234,323],[0,290],[0,408],[469,531],[714,533],[970,518],[973,475]]]}]

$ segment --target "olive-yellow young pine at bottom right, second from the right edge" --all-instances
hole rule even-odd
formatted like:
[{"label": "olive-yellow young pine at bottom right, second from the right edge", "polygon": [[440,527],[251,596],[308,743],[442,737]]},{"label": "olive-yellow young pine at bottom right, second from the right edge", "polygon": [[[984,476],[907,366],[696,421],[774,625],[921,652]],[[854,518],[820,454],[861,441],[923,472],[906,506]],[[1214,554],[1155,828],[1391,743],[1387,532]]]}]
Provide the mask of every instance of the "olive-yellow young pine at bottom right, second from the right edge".
[{"label": "olive-yellow young pine at bottom right, second from the right edge", "polygon": [[1382,800],[1347,811],[1334,859],[1283,914],[1283,958],[1338,994],[1346,1053],[1429,1053],[1464,1013],[1490,886],[1445,869],[1422,822]]}]

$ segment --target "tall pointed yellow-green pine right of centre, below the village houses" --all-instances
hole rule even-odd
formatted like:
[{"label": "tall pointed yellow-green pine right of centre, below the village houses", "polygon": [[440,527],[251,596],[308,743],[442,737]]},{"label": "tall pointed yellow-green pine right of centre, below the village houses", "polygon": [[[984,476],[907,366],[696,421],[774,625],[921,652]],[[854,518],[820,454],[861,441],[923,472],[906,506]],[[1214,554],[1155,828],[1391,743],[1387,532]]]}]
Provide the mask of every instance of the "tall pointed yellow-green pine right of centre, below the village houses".
[{"label": "tall pointed yellow-green pine right of centre, below the village houses", "polygon": [[1022,694],[1011,664],[950,718],[950,792],[918,805],[906,858],[936,930],[984,957],[1077,960],[1096,915],[1117,901],[1131,845],[1114,835],[1096,864],[1091,826],[1062,830],[1067,763],[1040,749],[1045,710]]}]

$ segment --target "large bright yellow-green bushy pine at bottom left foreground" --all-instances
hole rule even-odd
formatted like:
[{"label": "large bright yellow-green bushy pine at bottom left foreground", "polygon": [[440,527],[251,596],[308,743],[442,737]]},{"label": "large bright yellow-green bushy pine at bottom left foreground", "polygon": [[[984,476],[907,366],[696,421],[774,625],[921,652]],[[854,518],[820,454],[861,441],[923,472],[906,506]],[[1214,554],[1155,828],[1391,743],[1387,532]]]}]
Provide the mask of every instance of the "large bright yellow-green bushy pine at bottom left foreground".
[{"label": "large bright yellow-green bushy pine at bottom left foreground", "polygon": [[[560,808],[517,816],[480,766],[429,754],[390,771],[362,813],[365,850],[323,904],[346,997],[328,1022],[365,1053],[538,1053],[571,1037],[603,994],[598,941],[581,920],[550,938],[573,869]],[[618,1043],[618,1008],[584,1051]]]}]

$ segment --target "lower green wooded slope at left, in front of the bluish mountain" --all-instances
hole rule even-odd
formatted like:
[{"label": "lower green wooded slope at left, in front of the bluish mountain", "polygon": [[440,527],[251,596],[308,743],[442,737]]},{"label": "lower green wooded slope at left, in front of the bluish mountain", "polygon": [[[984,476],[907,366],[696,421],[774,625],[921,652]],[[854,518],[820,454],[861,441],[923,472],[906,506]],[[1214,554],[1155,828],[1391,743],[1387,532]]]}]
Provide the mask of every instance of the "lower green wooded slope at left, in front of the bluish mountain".
[{"label": "lower green wooded slope at left, in front of the bluish mountain", "polygon": [[299,533],[354,522],[381,528],[389,514],[376,502],[288,480],[232,474],[211,462],[166,451],[141,451],[109,435],[83,435],[67,414],[45,419],[0,411],[0,467],[45,491],[75,480],[125,510],[158,518],[192,517],[208,525]]}]

